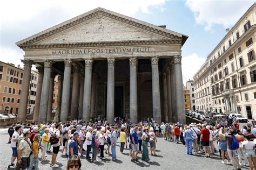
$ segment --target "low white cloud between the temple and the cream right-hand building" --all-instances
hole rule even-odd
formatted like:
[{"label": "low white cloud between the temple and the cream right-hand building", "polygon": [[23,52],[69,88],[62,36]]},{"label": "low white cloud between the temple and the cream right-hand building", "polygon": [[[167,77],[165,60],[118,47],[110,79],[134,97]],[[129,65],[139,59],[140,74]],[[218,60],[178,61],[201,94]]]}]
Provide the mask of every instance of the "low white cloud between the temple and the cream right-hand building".
[{"label": "low white cloud between the temple and the cream right-hand building", "polygon": [[183,56],[181,61],[183,84],[185,84],[188,79],[193,79],[194,74],[199,70],[204,62],[205,58],[199,57],[196,53]]}]

